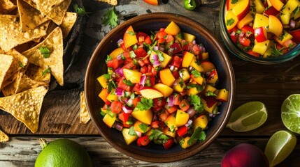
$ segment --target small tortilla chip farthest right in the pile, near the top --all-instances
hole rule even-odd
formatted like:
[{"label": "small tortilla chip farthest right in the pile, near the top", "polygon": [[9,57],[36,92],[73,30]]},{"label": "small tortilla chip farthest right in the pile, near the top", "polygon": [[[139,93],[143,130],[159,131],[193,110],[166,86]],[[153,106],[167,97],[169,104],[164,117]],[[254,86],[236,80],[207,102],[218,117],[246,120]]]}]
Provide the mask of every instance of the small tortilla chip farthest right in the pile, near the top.
[{"label": "small tortilla chip farthest right in the pile, near the top", "polygon": [[60,28],[62,29],[62,35],[64,38],[66,38],[72,27],[74,26],[77,19],[77,13],[69,13],[67,12],[66,15],[64,15],[64,19],[62,20],[62,24],[60,24]]}]

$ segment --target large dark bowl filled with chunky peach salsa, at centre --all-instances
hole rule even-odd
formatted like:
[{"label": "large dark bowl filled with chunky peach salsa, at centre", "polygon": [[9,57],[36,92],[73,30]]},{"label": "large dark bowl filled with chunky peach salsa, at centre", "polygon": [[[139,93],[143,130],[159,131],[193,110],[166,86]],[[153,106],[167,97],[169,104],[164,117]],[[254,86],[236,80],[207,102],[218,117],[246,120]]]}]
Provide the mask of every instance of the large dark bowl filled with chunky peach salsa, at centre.
[{"label": "large dark bowl filled with chunky peach salsa, at centre", "polygon": [[110,31],[85,76],[87,109],[103,138],[142,161],[186,159],[212,143],[234,102],[234,71],[208,29],[171,13]]}]

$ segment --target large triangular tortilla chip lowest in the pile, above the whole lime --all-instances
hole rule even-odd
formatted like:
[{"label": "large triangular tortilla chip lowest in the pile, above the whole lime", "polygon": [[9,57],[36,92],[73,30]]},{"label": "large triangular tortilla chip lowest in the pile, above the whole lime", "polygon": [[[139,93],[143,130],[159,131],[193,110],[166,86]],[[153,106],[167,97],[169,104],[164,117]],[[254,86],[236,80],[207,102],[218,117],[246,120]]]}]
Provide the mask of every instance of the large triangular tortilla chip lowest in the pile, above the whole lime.
[{"label": "large triangular tortilla chip lowest in the pile, above the whole lime", "polygon": [[16,95],[1,97],[0,109],[13,115],[35,133],[38,131],[41,107],[47,91],[48,87],[40,86]]}]

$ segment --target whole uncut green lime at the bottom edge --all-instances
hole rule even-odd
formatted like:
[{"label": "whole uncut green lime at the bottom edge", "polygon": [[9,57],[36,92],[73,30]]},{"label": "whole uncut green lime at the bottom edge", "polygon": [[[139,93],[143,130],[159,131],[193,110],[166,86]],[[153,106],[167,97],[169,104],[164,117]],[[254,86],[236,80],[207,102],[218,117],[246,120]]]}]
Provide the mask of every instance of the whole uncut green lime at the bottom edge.
[{"label": "whole uncut green lime at the bottom edge", "polygon": [[[45,142],[45,141],[44,141]],[[87,151],[75,141],[69,139],[58,139],[45,146],[38,158],[35,167],[64,166],[64,167],[90,167],[92,160]]]}]

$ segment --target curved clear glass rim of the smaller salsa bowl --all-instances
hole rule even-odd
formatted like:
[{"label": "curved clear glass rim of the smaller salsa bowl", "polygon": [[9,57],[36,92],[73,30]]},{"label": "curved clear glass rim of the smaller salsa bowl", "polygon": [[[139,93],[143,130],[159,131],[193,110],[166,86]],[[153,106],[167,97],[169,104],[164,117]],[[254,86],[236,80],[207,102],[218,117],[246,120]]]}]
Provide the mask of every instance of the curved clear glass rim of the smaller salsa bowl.
[{"label": "curved clear glass rim of the smaller salsa bowl", "polygon": [[[236,46],[233,40],[229,38],[229,33],[227,31],[226,25],[225,25],[225,8],[226,8],[226,1],[221,1],[220,3],[220,12],[219,12],[219,24],[220,24],[220,34],[222,39],[224,40],[225,46],[229,49],[229,51],[237,56],[238,58],[243,59],[244,61],[251,61],[254,63],[259,63],[259,64],[265,64],[265,65],[273,65],[273,64],[278,64],[278,63],[284,63],[286,61],[290,61],[293,58],[297,57],[300,55],[300,44],[298,44],[296,47],[291,49],[290,51],[287,52],[287,54],[278,56],[278,57],[271,57],[271,58],[262,58],[262,57],[255,57],[247,52],[243,51],[243,49],[239,48]],[[226,30],[226,31],[225,31]],[[299,51],[299,52],[297,52]]]}]

